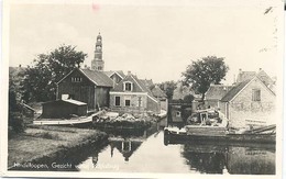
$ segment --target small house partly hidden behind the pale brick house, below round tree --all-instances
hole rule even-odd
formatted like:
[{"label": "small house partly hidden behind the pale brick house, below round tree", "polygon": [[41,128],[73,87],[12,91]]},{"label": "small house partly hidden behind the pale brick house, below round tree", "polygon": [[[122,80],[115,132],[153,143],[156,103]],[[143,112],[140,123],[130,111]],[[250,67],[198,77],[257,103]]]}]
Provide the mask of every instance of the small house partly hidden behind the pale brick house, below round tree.
[{"label": "small house partly hidden behind the pale brick house, below round tree", "polygon": [[210,85],[208,91],[205,94],[206,107],[215,109],[220,108],[219,101],[229,92],[231,88],[231,86]]}]

